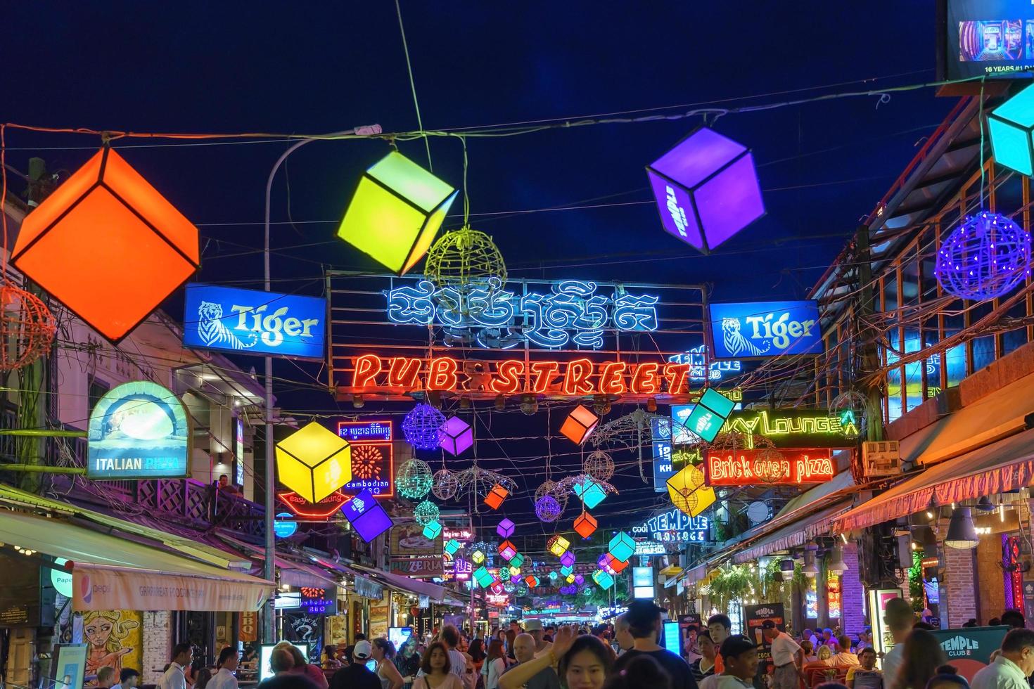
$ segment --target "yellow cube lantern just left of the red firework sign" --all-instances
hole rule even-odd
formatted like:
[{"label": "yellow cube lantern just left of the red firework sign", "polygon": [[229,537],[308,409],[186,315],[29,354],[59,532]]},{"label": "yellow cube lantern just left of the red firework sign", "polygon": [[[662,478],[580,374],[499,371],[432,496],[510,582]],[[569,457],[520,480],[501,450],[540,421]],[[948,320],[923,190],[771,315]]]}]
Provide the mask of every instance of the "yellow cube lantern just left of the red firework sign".
[{"label": "yellow cube lantern just left of the red firework sign", "polygon": [[276,443],[280,482],[320,502],[352,480],[352,445],[316,421]]}]

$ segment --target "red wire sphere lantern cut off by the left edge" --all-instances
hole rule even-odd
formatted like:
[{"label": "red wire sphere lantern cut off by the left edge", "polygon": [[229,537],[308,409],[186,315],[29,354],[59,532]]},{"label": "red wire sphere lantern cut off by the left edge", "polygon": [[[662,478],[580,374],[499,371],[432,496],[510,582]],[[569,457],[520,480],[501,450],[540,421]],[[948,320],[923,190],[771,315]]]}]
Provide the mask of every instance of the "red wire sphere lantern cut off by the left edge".
[{"label": "red wire sphere lantern cut off by the left edge", "polygon": [[51,351],[54,314],[32,292],[0,286],[0,371],[13,371]]}]

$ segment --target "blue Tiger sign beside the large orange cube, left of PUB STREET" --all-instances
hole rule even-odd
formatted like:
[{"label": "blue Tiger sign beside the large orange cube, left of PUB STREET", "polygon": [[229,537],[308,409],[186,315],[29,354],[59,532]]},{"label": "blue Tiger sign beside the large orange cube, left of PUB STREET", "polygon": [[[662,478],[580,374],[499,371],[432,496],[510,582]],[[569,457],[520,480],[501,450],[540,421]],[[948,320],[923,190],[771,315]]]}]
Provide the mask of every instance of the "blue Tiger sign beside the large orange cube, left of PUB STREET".
[{"label": "blue Tiger sign beside the large orange cube, left of PUB STREET", "polygon": [[247,354],[322,358],[327,301],[315,296],[189,284],[183,344]]}]

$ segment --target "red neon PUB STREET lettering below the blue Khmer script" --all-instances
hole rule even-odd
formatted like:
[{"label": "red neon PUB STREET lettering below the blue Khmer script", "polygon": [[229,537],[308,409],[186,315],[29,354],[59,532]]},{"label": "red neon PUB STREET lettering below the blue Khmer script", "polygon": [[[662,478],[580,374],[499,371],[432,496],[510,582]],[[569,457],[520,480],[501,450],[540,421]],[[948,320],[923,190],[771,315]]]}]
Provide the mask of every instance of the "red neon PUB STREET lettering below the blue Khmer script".
[{"label": "red neon PUB STREET lettering below the blue Khmer script", "polygon": [[[449,356],[429,359],[364,354],[355,359],[351,390],[469,390],[496,395],[517,393],[587,395],[683,395],[689,393],[689,364],[645,362],[535,361],[482,362],[467,373],[462,362]],[[353,457],[355,463],[355,457]],[[355,469],[353,469],[355,470]]]}]

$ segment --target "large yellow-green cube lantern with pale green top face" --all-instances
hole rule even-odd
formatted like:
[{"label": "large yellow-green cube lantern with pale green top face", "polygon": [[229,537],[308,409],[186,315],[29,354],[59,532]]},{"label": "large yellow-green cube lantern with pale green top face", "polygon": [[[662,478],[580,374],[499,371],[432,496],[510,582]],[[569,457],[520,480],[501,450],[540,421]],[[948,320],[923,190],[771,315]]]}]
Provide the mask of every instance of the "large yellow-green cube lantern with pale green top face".
[{"label": "large yellow-green cube lantern with pale green top face", "polygon": [[392,151],[363,174],[337,236],[404,275],[427,253],[457,193]]}]

